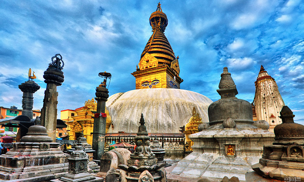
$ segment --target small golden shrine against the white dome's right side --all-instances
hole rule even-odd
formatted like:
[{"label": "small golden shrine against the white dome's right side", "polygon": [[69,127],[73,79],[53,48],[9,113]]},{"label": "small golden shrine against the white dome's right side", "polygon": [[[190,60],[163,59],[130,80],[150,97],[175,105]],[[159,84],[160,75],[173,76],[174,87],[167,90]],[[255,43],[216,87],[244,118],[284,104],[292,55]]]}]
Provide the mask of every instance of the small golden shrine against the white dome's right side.
[{"label": "small golden shrine against the white dome's right side", "polygon": [[193,145],[193,141],[189,139],[189,135],[193,133],[199,132],[198,126],[202,123],[202,118],[199,117],[199,113],[196,112],[195,107],[192,110],[192,116],[189,119],[189,122],[185,125],[185,135],[186,142],[188,142],[189,147],[186,148],[186,151],[192,151],[191,146]]}]

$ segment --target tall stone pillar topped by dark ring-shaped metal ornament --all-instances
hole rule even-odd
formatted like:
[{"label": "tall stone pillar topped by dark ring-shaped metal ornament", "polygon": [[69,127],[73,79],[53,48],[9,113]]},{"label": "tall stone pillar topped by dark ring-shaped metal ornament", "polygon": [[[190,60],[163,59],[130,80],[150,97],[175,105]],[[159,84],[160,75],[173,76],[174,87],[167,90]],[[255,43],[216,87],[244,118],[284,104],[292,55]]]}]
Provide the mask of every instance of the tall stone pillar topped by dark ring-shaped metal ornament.
[{"label": "tall stone pillar topped by dark ring-shaped metal ornament", "polygon": [[[59,57],[60,58],[59,58]],[[44,72],[44,82],[47,83],[47,89],[44,92],[43,108],[41,110],[41,125],[47,128],[47,134],[56,141],[56,124],[57,124],[57,86],[64,82],[63,72],[64,66],[62,56],[56,54],[52,57],[52,62]],[[61,66],[62,62],[62,66]]]}]

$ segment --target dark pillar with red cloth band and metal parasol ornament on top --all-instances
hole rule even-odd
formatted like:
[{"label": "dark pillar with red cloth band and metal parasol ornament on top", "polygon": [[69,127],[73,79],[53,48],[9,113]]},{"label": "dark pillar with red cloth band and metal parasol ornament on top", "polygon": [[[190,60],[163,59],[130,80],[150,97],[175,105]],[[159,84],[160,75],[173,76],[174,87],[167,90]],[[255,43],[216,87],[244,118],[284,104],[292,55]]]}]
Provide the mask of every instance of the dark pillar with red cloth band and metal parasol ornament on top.
[{"label": "dark pillar with red cloth band and metal parasol ornament on top", "polygon": [[[104,153],[105,147],[105,124],[106,124],[106,115],[105,115],[105,102],[109,98],[109,91],[106,88],[107,79],[111,81],[111,73],[100,72],[98,74],[100,77],[104,78],[103,82],[96,87],[96,97],[97,100],[97,111],[94,117],[94,126],[93,126],[93,142],[92,148],[95,150],[93,153],[94,160],[100,160],[102,154]],[[109,86],[108,86],[109,88]]]}]

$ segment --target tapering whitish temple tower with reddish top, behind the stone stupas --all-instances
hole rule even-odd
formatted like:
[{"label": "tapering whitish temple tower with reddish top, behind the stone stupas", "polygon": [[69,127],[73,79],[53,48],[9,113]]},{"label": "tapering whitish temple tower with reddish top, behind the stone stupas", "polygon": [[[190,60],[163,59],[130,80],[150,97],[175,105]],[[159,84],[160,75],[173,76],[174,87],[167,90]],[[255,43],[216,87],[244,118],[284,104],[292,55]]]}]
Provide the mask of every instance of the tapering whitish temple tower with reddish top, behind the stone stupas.
[{"label": "tapering whitish temple tower with reddish top, behind the stone stupas", "polygon": [[257,120],[269,123],[269,131],[273,132],[276,125],[281,124],[280,111],[285,105],[278,90],[275,79],[268,75],[263,65],[255,83],[254,109]]}]

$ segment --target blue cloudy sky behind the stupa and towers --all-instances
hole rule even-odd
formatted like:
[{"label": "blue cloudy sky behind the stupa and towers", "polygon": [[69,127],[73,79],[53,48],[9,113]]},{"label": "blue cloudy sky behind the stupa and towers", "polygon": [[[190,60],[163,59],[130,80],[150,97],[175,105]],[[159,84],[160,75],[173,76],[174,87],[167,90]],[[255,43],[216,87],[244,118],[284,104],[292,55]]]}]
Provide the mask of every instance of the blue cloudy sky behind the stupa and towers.
[{"label": "blue cloudy sky behind the stupa and towers", "polygon": [[[0,6],[0,106],[21,109],[18,85],[35,71],[43,106],[43,71],[57,53],[64,83],[58,111],[76,109],[95,96],[99,72],[112,73],[109,94],[135,89],[136,69],[152,32],[158,1],[2,1]],[[275,78],[285,102],[304,123],[304,3],[275,1],[164,1],[165,35],[179,56],[181,89],[213,101],[223,67],[250,103],[261,64]]]}]

